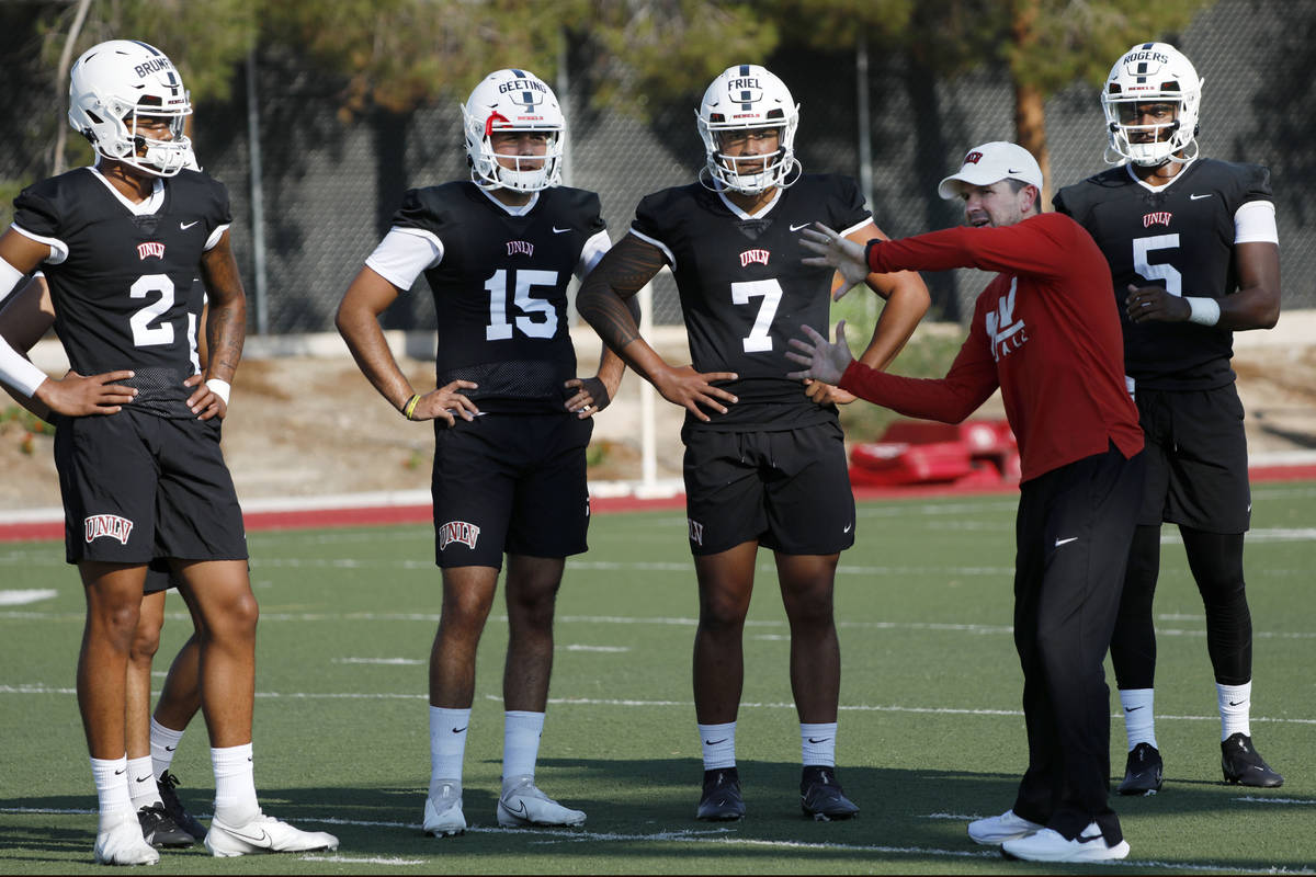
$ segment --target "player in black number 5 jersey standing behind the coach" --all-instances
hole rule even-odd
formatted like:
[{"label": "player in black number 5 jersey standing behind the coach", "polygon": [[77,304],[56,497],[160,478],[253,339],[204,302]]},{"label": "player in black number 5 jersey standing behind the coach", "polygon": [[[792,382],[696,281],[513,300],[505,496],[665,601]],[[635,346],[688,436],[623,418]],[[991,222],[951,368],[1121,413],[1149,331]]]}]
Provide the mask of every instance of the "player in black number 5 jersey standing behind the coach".
[{"label": "player in black number 5 jersey standing behind the coach", "polygon": [[1148,475],[1111,640],[1128,731],[1121,794],[1153,794],[1163,767],[1153,724],[1152,598],[1161,523],[1179,525],[1207,613],[1227,782],[1284,780],[1252,744],[1252,615],[1244,533],[1252,517],[1242,404],[1229,368],[1233,333],[1279,320],[1279,237],[1270,172],[1200,158],[1202,82],[1162,42],[1115,62],[1101,92],[1119,166],[1066,187],[1055,209],[1105,254],[1124,322],[1129,389],[1146,434]]}]

